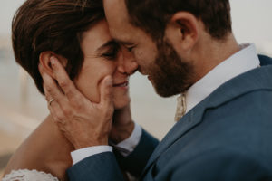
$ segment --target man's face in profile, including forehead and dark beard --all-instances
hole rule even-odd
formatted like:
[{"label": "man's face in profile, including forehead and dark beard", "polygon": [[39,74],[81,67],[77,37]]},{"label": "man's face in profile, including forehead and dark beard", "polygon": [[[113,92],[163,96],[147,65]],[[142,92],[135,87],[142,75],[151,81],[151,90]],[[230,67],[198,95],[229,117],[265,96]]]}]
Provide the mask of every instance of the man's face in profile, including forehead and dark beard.
[{"label": "man's face in profile, including forehead and dark beard", "polygon": [[192,66],[181,60],[169,41],[154,42],[150,35],[133,26],[124,0],[103,0],[103,4],[112,38],[125,49],[124,67],[129,70],[132,67],[130,64],[136,62],[138,70],[148,76],[162,97],[187,90],[193,73]]}]

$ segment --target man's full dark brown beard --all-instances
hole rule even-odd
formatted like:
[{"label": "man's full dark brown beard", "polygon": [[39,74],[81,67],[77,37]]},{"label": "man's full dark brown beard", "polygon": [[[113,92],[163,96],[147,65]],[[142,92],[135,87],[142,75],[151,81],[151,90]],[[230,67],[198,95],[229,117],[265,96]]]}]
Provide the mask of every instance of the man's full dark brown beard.
[{"label": "man's full dark brown beard", "polygon": [[158,55],[151,66],[150,79],[161,97],[185,92],[193,84],[193,66],[181,60],[168,41],[157,43]]}]

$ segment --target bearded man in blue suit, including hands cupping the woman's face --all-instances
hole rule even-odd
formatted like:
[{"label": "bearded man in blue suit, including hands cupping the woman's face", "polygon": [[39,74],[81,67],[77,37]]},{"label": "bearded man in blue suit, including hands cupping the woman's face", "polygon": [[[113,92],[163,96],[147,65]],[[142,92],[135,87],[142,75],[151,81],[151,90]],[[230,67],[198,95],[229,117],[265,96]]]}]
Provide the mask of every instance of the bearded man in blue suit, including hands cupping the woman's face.
[{"label": "bearded man in blue suit, including hands cupping the woman's face", "polygon": [[[148,181],[272,180],[272,60],[257,56],[253,44],[236,42],[228,0],[103,0],[103,5],[112,37],[121,43],[124,70],[147,75],[162,97],[180,94],[178,122],[160,143],[131,121],[129,109],[114,112],[112,123],[106,78],[102,103],[93,107],[99,116],[75,120],[73,107],[55,116],[77,149],[70,180],[123,180],[120,167]],[[54,57],[52,64],[68,100],[85,102]],[[57,100],[49,106],[57,114],[62,91],[41,73],[47,100]],[[90,122],[112,124],[114,154],[96,141],[107,136],[89,137],[80,129],[92,125],[95,131]]]}]

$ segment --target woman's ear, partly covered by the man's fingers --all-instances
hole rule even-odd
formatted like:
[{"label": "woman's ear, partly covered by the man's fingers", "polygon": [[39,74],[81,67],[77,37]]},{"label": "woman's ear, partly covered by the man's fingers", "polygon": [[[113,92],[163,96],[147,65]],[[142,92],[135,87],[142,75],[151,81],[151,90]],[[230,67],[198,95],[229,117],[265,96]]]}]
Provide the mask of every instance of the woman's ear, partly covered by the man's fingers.
[{"label": "woman's ear, partly covered by the man's fingers", "polygon": [[67,59],[63,58],[60,55],[55,54],[54,52],[50,52],[50,51],[40,53],[39,61],[40,61],[40,64],[43,65],[44,71],[46,73],[48,73],[51,77],[56,79],[54,76],[54,73],[53,73],[53,68],[52,68],[51,62],[50,62],[50,58],[52,56],[57,58],[58,61],[63,64],[63,67],[66,67]]}]

